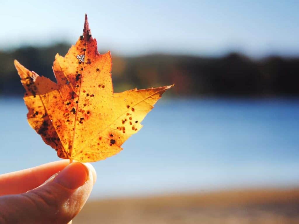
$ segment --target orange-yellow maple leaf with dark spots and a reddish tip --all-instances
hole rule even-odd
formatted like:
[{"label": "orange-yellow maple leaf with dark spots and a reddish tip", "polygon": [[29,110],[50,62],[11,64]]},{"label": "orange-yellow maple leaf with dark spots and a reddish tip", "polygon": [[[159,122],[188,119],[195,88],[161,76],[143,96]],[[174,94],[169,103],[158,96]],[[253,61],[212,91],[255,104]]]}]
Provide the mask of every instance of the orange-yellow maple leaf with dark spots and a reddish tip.
[{"label": "orange-yellow maple leaf with dark spots and a reddish tip", "polygon": [[117,154],[141,121],[172,86],[114,93],[112,59],[100,55],[87,16],[83,35],[65,57],[57,54],[57,83],[14,61],[26,90],[28,122],[61,158],[94,162]]}]

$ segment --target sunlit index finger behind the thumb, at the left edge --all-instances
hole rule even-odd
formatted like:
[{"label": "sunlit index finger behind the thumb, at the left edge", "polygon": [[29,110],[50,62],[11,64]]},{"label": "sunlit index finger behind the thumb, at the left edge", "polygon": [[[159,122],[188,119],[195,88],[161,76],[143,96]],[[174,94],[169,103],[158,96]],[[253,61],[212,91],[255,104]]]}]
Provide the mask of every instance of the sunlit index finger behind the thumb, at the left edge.
[{"label": "sunlit index finger behind the thumb, at the left edge", "polygon": [[0,175],[0,196],[20,194],[38,187],[53,174],[61,171],[69,160],[46,163],[29,169]]}]

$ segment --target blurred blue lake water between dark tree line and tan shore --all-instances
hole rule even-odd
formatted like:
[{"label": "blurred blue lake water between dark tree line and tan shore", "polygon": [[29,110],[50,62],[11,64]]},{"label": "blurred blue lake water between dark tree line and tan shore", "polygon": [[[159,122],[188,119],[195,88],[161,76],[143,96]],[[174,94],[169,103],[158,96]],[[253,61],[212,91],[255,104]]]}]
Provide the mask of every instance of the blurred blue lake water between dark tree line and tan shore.
[{"label": "blurred blue lake water between dark tree line and tan shore", "polygon": [[[58,160],[22,97],[0,98],[0,173]],[[299,184],[299,99],[159,101],[123,151],[93,163],[93,198]]]}]

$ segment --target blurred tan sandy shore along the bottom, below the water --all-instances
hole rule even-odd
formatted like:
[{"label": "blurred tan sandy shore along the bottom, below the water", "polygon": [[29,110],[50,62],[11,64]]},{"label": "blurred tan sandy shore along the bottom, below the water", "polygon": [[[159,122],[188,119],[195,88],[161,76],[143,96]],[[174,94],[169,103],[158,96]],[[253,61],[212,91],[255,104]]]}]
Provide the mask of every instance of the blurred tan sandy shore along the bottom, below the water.
[{"label": "blurred tan sandy shore along the bottom, below the water", "polygon": [[74,224],[299,223],[299,188],[91,201]]}]

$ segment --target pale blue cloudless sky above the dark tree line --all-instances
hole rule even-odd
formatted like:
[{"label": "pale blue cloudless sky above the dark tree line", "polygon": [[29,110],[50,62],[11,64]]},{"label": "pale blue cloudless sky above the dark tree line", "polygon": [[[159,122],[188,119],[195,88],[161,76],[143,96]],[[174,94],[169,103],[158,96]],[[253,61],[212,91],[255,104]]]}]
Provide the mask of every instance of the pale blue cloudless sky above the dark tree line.
[{"label": "pale blue cloudless sky above the dark tree line", "polygon": [[74,44],[89,17],[100,52],[299,55],[299,1],[5,1],[0,50]]}]

